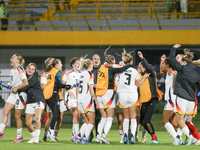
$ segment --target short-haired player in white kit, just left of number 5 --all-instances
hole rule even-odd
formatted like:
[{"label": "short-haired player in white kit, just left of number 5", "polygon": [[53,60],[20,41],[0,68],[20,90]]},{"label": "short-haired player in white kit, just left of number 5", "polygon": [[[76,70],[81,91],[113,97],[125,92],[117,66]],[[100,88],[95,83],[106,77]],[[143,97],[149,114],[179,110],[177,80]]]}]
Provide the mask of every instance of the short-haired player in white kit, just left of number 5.
[{"label": "short-haired player in white kit, just left of number 5", "polygon": [[[73,86],[79,82],[80,77],[80,59],[74,57],[70,60],[70,66],[72,71],[65,72],[63,76],[63,81],[66,84]],[[73,126],[72,126],[72,138],[71,141],[75,141],[75,136],[79,133],[79,114],[77,105],[78,87],[68,90],[65,92],[65,100],[67,108],[71,111],[73,115]]]}]

